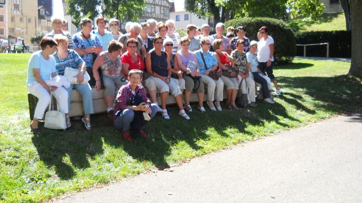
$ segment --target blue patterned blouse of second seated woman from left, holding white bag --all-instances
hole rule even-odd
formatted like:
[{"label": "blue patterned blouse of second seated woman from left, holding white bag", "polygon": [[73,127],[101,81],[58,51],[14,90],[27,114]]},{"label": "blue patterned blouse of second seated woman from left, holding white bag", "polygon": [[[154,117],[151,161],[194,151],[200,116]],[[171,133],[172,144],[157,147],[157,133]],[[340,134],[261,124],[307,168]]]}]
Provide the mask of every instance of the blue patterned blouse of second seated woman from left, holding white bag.
[{"label": "blue patterned blouse of second seated woman from left, holding white bag", "polygon": [[64,75],[66,67],[78,69],[78,65],[84,62],[76,51],[68,49],[66,52],[67,56],[64,59],[59,58],[58,52],[53,54],[56,60],[57,75]]}]

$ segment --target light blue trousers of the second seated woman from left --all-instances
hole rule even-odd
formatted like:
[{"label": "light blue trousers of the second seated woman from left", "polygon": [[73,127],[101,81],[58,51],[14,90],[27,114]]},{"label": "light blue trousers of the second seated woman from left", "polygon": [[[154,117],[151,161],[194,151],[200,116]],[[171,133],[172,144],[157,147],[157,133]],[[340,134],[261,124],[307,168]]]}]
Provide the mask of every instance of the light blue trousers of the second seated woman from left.
[{"label": "light blue trousers of the second seated woman from left", "polygon": [[68,106],[70,106],[70,95],[71,91],[73,89],[76,89],[80,95],[82,95],[83,99],[83,110],[84,114],[92,114],[94,113],[93,110],[93,93],[92,88],[90,85],[87,84],[74,84],[70,85],[69,88],[66,88],[66,91],[68,92]]}]

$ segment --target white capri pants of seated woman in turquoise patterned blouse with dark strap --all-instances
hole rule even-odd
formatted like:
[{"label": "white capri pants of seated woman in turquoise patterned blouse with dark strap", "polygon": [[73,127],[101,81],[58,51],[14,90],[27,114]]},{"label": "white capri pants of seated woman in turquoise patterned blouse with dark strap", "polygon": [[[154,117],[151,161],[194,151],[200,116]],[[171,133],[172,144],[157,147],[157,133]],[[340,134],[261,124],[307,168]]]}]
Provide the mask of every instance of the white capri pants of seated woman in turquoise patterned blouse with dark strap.
[{"label": "white capri pants of seated woman in turquoise patterned blouse with dark strap", "polygon": [[[223,91],[224,91],[224,82],[219,78],[215,81],[207,75],[201,76],[202,82],[207,85],[207,96],[209,101],[214,101],[214,96],[216,95],[215,100],[223,101]],[[215,89],[216,88],[216,89]]]}]

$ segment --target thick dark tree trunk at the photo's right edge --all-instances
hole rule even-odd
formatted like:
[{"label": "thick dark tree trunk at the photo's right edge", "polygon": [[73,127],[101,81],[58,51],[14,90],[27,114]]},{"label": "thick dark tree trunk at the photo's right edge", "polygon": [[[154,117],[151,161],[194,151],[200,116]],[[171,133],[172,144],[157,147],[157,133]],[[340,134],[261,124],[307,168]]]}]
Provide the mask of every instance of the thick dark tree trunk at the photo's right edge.
[{"label": "thick dark tree trunk at the photo's right edge", "polygon": [[362,78],[362,0],[351,0],[352,49],[349,74]]}]

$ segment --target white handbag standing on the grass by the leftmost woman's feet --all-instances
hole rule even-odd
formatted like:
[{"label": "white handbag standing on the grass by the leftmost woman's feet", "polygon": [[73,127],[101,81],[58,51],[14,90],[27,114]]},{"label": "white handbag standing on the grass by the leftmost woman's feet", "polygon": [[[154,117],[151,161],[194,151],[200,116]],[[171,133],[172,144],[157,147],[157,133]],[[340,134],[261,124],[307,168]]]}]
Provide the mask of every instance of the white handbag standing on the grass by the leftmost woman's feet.
[{"label": "white handbag standing on the grass by the leftmost woman's feet", "polygon": [[[49,110],[45,113],[45,123],[44,127],[49,129],[66,129],[66,123],[65,123],[65,114],[60,112],[59,110],[54,110],[53,105],[53,93],[50,94],[50,104],[49,104]],[[57,100],[57,109],[59,109],[59,104]]]}]

